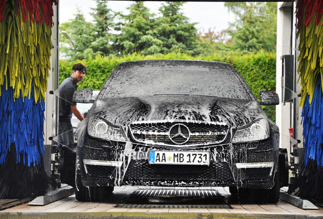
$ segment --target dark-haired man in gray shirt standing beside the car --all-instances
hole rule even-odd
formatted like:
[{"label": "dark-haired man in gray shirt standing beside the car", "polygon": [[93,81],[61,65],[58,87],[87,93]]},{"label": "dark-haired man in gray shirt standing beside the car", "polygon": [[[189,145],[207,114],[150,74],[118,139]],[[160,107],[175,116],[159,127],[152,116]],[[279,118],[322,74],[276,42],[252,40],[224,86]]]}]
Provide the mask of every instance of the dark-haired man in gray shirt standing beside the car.
[{"label": "dark-haired man in gray shirt standing beside the car", "polygon": [[[58,118],[58,143],[63,145],[73,145],[73,127],[71,123],[72,113],[80,121],[84,119],[82,114],[73,102],[73,94],[77,90],[77,83],[83,80],[86,72],[86,66],[82,63],[76,63],[72,68],[72,76],[65,79],[59,86],[59,118]],[[61,145],[59,149],[61,148]]]}]

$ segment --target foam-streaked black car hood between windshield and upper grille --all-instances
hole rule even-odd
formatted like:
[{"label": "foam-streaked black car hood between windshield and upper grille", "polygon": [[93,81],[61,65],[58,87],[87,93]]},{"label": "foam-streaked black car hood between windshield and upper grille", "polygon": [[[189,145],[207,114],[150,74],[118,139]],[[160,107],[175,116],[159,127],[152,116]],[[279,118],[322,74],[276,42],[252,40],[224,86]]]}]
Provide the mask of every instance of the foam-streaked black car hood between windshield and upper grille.
[{"label": "foam-streaked black car hood between windshield and upper grille", "polygon": [[240,127],[267,118],[257,101],[208,96],[155,95],[98,99],[89,116],[127,126],[135,121],[202,121]]}]

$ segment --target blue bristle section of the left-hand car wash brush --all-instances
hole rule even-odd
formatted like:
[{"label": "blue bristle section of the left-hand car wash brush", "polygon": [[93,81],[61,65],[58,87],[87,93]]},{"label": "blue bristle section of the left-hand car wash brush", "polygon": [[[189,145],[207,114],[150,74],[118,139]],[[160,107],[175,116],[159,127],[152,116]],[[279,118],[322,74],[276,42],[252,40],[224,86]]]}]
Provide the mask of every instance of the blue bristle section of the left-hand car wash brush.
[{"label": "blue bristle section of the left-hand car wash brush", "polygon": [[[7,82],[8,83],[8,82]],[[44,152],[44,99],[39,97],[35,103],[34,84],[31,84],[31,96],[14,99],[13,89],[2,86],[0,96],[0,165],[10,151],[10,145],[15,144],[17,163],[23,162],[30,166],[40,164],[40,156]],[[20,160],[20,155],[26,154],[27,160]]]}]

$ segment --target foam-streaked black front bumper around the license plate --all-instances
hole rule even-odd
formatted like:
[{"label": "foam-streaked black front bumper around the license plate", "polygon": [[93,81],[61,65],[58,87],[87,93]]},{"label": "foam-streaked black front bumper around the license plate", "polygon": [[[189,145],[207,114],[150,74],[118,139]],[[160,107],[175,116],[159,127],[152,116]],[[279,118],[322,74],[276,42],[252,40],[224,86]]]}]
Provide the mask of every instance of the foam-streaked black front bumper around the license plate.
[{"label": "foam-streaked black front bumper around the license plate", "polygon": [[160,148],[86,137],[78,150],[84,186],[238,186],[269,189],[274,185],[277,156],[270,139],[254,142],[252,147],[250,143],[227,143],[189,149],[210,151],[210,165],[165,165],[148,163],[148,151]]}]

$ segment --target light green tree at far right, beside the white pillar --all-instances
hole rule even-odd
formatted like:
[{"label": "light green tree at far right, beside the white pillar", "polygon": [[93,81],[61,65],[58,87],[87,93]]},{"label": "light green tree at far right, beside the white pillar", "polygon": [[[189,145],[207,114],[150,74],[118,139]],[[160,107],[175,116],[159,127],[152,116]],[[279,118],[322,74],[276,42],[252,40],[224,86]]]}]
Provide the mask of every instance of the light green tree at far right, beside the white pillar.
[{"label": "light green tree at far right, beside the white pillar", "polygon": [[276,3],[226,2],[225,7],[236,15],[230,24],[234,49],[242,52],[257,52],[261,49],[272,52],[276,47]]}]

